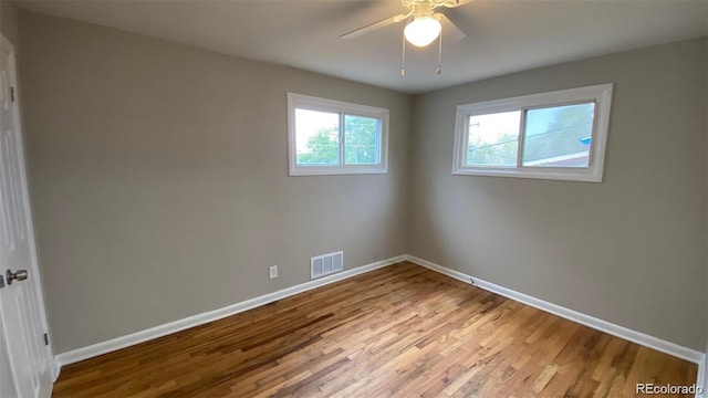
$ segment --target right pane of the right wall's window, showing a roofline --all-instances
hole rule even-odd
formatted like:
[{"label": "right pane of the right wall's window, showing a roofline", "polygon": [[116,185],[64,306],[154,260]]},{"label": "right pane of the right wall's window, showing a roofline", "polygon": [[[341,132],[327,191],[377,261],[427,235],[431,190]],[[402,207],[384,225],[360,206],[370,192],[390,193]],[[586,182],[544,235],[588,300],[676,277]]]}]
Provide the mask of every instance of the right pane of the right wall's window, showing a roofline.
[{"label": "right pane of the right wall's window, showing a roofline", "polygon": [[527,111],[523,166],[589,167],[595,103]]}]

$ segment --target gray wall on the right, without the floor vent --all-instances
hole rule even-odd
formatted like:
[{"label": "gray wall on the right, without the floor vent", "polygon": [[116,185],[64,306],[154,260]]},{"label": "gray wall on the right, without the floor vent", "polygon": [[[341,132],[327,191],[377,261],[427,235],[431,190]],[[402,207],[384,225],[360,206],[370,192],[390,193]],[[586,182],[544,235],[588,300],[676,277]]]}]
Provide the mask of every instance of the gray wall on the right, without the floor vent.
[{"label": "gray wall on the right, without the floor vent", "polygon": [[[413,254],[706,348],[706,40],[417,96]],[[604,182],[452,176],[459,104],[615,83]]]}]

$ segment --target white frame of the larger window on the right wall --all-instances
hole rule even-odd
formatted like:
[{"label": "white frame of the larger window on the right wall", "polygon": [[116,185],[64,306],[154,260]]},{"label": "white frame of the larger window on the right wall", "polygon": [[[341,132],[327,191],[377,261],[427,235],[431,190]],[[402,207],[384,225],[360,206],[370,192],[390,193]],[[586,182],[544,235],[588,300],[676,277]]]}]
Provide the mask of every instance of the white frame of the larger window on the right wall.
[{"label": "white frame of the larger window on the right wall", "polygon": [[[561,90],[549,93],[522,95],[512,98],[459,105],[457,107],[457,117],[455,123],[455,155],[452,163],[452,174],[467,176],[496,176],[602,182],[605,163],[605,146],[607,144],[607,128],[610,125],[610,108],[612,106],[612,88],[613,83],[607,83],[586,87]],[[562,106],[585,102],[595,103],[589,167],[580,168],[522,166],[521,154],[523,150],[523,142],[525,139],[524,111],[538,107]],[[469,145],[469,117],[512,111],[522,112],[519,128],[519,153],[517,156],[517,165],[510,167],[466,165]]]}]

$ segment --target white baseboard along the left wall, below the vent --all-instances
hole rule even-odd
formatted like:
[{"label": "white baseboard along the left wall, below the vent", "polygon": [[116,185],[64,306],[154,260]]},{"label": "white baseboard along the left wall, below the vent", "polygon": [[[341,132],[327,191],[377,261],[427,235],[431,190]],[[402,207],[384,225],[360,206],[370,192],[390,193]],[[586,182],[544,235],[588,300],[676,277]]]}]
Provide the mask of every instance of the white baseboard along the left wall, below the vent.
[{"label": "white baseboard along the left wall, below the vent", "polygon": [[[171,333],[180,332],[190,327],[204,325],[209,322],[218,321],[227,316],[236,315],[254,307],[272,303],[278,300],[290,297],[298,293],[303,293],[320,286],[324,286],[334,282],[339,282],[358,274],[363,274],[369,271],[374,271],[384,266],[395,264],[406,260],[406,255],[398,255],[387,260],[377,261],[367,265],[362,265],[352,270],[346,270],[332,274],[329,276],[320,277],[314,281],[305,282],[292,287],[283,289],[278,292],[264,294],[251,300],[247,300],[240,303],[231,304],[229,306],[209,311],[206,313],[192,315],[183,320],[166,323],[159,326],[150,327],[145,331],[132,333],[117,338],[112,338],[106,342],[93,344],[86,347],[72,349],[66,353],[56,355],[56,363],[59,366],[64,366],[80,360],[96,357],[98,355],[107,354],[121,348],[129,347],[139,343],[144,343],[150,339],[166,336]],[[59,374],[59,373],[58,373]]]}]

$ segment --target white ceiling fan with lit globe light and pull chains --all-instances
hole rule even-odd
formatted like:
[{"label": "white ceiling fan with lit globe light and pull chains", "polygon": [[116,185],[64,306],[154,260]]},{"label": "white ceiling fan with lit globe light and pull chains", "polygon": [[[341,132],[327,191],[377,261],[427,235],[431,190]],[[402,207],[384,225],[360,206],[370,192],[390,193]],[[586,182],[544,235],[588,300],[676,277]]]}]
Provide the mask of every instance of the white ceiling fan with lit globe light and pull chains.
[{"label": "white ceiling fan with lit globe light and pull chains", "polygon": [[404,29],[403,39],[403,61],[400,65],[400,75],[405,76],[405,57],[406,57],[406,41],[415,46],[426,46],[439,38],[438,41],[438,69],[437,74],[440,74],[440,54],[442,51],[442,23],[446,24],[446,35],[449,34],[452,40],[459,41],[465,39],[465,33],[450,21],[447,15],[441,12],[435,12],[438,8],[456,8],[462,6],[471,0],[403,0],[403,6],[408,9],[408,12],[383,19],[381,21],[367,24],[365,27],[355,29],[351,32],[340,35],[341,39],[354,39],[377,29],[387,27],[393,23],[399,23],[408,20],[406,28]]}]

